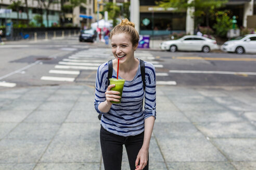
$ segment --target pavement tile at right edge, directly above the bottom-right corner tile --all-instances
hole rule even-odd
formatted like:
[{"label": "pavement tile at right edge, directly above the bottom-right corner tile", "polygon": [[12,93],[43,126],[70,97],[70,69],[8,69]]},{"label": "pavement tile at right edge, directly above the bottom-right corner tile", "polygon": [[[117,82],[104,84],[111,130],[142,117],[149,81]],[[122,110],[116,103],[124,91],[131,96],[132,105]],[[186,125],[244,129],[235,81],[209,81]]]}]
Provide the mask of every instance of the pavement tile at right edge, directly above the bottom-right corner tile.
[{"label": "pavement tile at right edge, directly above the bottom-right corner tile", "polygon": [[249,138],[212,139],[231,161],[256,161],[256,140]]}]

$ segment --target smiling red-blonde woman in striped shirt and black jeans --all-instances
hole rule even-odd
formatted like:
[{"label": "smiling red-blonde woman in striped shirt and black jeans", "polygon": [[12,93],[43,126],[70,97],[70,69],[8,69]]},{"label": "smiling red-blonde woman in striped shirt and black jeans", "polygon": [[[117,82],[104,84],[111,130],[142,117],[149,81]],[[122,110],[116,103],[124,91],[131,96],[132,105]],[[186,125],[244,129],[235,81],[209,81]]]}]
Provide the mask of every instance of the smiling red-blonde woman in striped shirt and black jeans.
[{"label": "smiling red-blonde woman in striped shirt and black jeans", "polygon": [[[108,84],[108,62],[101,64],[96,75],[94,106],[102,115],[100,146],[105,170],[120,170],[123,145],[126,148],[131,169],[148,169],[148,149],[153,124],[156,119],[156,73],[155,67],[145,62],[145,91],[140,72],[140,59],[135,58],[139,34],[135,24],[127,19],[114,27],[110,33],[114,59],[112,77],[124,79],[120,104],[119,92],[111,91]],[[145,97],[144,97],[145,95]],[[143,101],[145,106],[143,108]]]}]

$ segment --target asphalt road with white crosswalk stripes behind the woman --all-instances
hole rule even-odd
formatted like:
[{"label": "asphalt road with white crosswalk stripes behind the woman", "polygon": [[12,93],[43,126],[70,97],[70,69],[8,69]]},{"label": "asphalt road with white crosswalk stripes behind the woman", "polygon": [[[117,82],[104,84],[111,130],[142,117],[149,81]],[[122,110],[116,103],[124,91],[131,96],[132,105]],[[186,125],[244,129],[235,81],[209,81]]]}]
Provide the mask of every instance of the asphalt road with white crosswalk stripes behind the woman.
[{"label": "asphalt road with white crosswalk stripes behind the woman", "polygon": [[[135,56],[155,65],[159,85],[256,86],[256,54],[138,49]],[[0,46],[0,90],[73,83],[94,86],[98,65],[111,58],[110,46],[80,43],[78,37],[7,42]]]}]

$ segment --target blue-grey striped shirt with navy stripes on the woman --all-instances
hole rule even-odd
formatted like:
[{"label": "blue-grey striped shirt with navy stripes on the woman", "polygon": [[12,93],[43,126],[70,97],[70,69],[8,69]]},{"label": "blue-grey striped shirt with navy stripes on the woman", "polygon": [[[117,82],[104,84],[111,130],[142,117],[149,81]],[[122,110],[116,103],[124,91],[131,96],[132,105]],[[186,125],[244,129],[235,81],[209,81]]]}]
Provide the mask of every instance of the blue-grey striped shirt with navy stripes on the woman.
[{"label": "blue-grey striped shirt with navy stripes on the woman", "polygon": [[[97,70],[94,106],[103,114],[100,124],[107,131],[120,136],[134,136],[144,131],[144,120],[150,116],[156,118],[156,73],[155,67],[145,62],[145,92],[143,89],[140,65],[133,80],[124,83],[120,104],[112,104],[108,112],[101,112],[98,106],[106,101],[108,63],[101,64]],[[113,69],[112,78],[117,78]],[[119,78],[121,78],[119,76]],[[144,98],[145,96],[145,98]],[[143,100],[145,105],[143,108]]]}]

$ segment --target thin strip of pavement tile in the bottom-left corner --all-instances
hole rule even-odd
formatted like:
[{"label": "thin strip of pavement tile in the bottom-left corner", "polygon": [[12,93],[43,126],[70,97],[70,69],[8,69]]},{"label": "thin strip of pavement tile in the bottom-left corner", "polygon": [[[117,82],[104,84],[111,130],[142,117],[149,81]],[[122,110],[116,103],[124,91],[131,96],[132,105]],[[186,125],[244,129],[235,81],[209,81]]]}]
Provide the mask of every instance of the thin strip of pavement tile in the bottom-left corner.
[{"label": "thin strip of pavement tile in the bottom-left corner", "polygon": [[0,163],[0,169],[3,170],[31,170],[35,163]]}]

